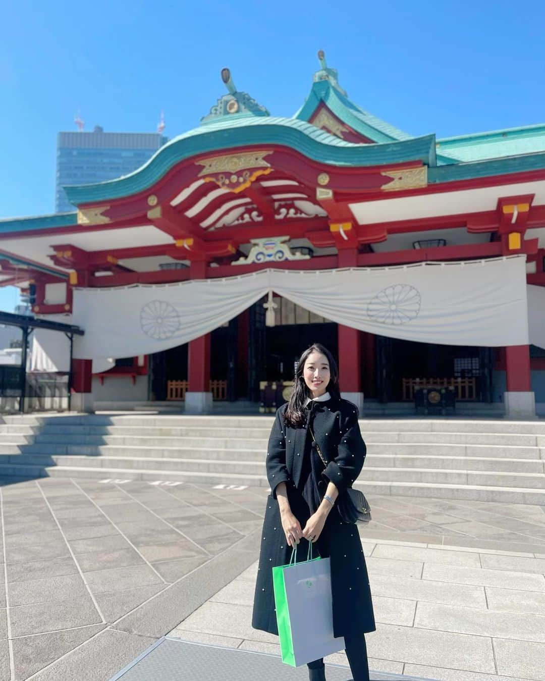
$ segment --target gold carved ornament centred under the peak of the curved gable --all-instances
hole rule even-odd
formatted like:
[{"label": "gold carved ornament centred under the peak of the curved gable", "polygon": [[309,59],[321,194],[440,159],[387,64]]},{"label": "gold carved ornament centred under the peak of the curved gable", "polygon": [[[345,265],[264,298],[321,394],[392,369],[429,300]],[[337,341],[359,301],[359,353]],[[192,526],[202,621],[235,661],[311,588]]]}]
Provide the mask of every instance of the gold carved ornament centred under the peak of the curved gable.
[{"label": "gold carved ornament centred under the peak of the curved gable", "polygon": [[228,189],[237,194],[261,175],[272,171],[271,164],[265,156],[271,151],[251,151],[242,154],[225,154],[213,156],[202,161],[195,161],[204,168],[199,172],[205,182],[215,182],[218,187]]}]

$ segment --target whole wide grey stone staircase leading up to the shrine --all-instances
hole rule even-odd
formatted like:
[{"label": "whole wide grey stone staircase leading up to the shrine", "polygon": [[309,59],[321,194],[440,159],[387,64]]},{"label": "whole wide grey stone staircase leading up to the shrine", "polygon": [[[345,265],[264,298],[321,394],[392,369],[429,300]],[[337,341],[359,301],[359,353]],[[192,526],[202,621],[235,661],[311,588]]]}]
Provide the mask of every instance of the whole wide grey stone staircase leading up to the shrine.
[{"label": "whole wide grey stone staircase leading up to the shrine", "polygon": [[[12,415],[0,477],[268,487],[270,415]],[[545,422],[360,419],[365,493],[545,505]]]}]

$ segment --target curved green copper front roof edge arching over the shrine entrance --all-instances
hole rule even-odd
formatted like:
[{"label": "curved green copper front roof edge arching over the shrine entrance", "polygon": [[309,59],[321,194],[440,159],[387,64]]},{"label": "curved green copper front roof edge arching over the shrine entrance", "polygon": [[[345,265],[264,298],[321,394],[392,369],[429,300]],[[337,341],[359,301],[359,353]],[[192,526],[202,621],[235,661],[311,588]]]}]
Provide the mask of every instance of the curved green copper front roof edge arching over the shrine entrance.
[{"label": "curved green copper front roof edge arching over the shrine entrance", "polygon": [[183,159],[245,144],[282,144],[310,159],[332,165],[382,165],[415,160],[435,165],[433,135],[384,144],[352,144],[297,118],[217,118],[174,138],[131,174],[95,185],[71,185],[64,189],[69,202],[76,206],[115,199],[152,187]]}]

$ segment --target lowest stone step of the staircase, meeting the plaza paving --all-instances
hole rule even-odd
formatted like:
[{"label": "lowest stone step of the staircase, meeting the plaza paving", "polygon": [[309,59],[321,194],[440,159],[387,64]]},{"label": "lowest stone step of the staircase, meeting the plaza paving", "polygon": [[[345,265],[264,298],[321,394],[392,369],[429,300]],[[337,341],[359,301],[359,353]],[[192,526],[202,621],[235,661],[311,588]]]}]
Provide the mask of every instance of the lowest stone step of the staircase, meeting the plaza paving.
[{"label": "lowest stone step of the staircase, meeting the plaza paving", "polygon": [[[157,471],[146,469],[108,469],[89,466],[24,466],[0,464],[0,477],[18,476],[32,479],[35,477],[78,477],[89,479],[127,479],[144,481],[180,481],[201,485],[234,484],[261,486],[268,488],[265,475],[236,475],[233,473],[188,473],[179,471]],[[494,501],[496,503],[522,503],[545,506],[545,491],[531,488],[502,488],[496,486],[386,482],[358,480],[354,487],[365,494],[393,494],[413,498],[469,499],[474,501]],[[372,513],[372,505],[371,505]]]}]

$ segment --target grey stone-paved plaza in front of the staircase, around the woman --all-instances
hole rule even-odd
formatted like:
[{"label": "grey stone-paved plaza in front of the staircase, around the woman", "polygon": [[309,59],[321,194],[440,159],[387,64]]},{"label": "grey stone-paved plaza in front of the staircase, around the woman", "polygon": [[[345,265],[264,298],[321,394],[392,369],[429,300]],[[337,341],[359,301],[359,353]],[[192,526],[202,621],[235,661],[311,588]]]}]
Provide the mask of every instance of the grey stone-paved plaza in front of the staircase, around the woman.
[{"label": "grey stone-paved plaza in front of the staircase, around the woman", "polygon": [[[0,496],[0,679],[107,681],[164,635],[278,654],[250,626],[266,488],[42,478]],[[371,669],[544,681],[544,507],[368,498]]]}]

